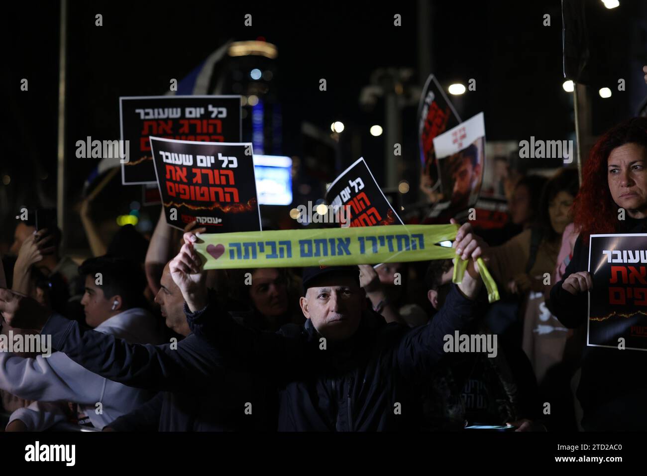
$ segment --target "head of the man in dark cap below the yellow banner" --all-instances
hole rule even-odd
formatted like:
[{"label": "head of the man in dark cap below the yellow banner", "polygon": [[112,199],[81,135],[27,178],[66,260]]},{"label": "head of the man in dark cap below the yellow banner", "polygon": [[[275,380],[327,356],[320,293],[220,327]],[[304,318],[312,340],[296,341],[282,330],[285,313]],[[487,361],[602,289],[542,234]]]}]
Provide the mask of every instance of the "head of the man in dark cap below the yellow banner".
[{"label": "head of the man in dark cap below the yellow banner", "polygon": [[366,293],[351,277],[322,276],[300,300],[303,315],[326,339],[344,340],[355,334],[366,308]]}]

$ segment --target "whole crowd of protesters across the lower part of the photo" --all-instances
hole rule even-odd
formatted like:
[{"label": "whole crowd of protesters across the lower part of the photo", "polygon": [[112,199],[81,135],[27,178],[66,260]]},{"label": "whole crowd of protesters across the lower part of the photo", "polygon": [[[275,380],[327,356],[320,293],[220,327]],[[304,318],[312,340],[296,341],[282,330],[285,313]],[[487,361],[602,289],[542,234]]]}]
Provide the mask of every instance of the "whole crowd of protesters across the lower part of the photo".
[{"label": "whole crowd of protesters across the lower part of the photo", "polygon": [[[647,119],[600,137],[581,184],[575,168],[517,178],[509,225],[457,224],[460,284],[453,260],[202,271],[205,229],[179,236],[163,214],[149,240],[93,234],[77,266],[60,231],[20,222],[2,333],[51,336],[54,352],[0,352],[6,431],[644,429],[647,357],[584,337],[589,236],[647,232]],[[496,348],[448,353],[455,332]]]}]

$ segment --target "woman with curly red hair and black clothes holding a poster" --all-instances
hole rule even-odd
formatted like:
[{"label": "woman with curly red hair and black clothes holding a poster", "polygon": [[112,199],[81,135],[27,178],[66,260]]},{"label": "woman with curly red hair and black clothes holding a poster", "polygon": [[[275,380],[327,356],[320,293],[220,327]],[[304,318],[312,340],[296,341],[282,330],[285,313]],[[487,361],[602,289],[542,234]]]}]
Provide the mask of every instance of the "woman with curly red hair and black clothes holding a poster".
[{"label": "woman with curly red hair and black clothes holding a poster", "polygon": [[[624,209],[624,214],[622,210]],[[597,141],[582,173],[573,204],[580,233],[564,278],[547,304],[569,328],[587,321],[589,236],[647,232],[647,119],[636,117],[609,130]],[[620,220],[624,215],[624,220]],[[587,431],[641,430],[647,424],[647,354],[633,350],[586,347],[577,396]]]}]

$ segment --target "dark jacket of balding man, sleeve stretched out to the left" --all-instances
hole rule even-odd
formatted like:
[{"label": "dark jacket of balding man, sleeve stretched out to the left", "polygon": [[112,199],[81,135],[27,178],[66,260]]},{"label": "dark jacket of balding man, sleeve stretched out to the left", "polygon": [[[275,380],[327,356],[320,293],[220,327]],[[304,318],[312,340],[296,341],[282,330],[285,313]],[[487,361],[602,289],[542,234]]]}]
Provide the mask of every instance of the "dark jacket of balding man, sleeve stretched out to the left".
[{"label": "dark jacket of balding man, sleeve stretched out to the left", "polygon": [[[274,389],[259,376],[217,367],[214,354],[195,335],[174,344],[129,345],[58,314],[49,318],[41,334],[51,334],[54,348],[95,374],[159,391],[109,425],[117,431],[276,429]],[[252,414],[245,413],[249,407]]]}]

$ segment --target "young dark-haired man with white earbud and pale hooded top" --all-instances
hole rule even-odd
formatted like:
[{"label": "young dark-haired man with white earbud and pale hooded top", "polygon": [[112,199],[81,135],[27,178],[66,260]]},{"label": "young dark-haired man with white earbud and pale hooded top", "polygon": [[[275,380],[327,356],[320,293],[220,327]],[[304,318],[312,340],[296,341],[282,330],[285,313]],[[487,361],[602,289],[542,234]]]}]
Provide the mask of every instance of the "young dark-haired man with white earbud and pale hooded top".
[{"label": "young dark-haired man with white earbud and pale hooded top", "polygon": [[[137,264],[99,256],[83,262],[79,275],[85,279],[85,322],[94,330],[129,343],[163,342],[160,324],[140,307],[146,278]],[[102,429],[152,396],[93,374],[63,352],[35,359],[0,352],[0,389],[38,400],[14,411],[7,431],[42,431],[66,419],[58,406],[42,402],[78,403],[80,424]]]}]

